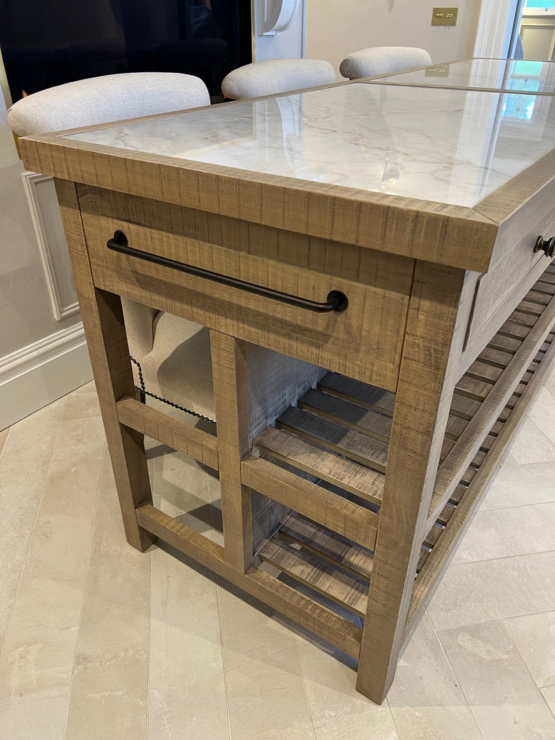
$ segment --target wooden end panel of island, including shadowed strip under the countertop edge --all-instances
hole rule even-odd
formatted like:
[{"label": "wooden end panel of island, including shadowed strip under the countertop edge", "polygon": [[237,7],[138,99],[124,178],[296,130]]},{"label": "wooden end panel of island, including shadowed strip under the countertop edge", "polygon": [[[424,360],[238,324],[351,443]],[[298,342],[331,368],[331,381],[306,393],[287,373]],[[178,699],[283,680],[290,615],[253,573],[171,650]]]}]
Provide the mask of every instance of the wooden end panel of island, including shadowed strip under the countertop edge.
[{"label": "wooden end panel of island, including shadowed strip under the countertop edge", "polygon": [[[111,193],[101,205],[98,198],[98,192],[92,198],[87,189],[80,204],[99,288],[380,388],[396,389],[413,260],[231,223],[235,220],[178,206],[171,206],[169,216],[170,206],[127,195]],[[118,199],[126,201],[125,209],[115,202]],[[158,206],[164,206],[164,213],[157,216]],[[142,223],[113,218],[110,212],[133,215]],[[142,255],[114,252],[107,240],[116,231],[124,232],[129,247],[143,254],[319,303],[340,291],[348,307],[343,312],[312,312],[152,263]]]}]

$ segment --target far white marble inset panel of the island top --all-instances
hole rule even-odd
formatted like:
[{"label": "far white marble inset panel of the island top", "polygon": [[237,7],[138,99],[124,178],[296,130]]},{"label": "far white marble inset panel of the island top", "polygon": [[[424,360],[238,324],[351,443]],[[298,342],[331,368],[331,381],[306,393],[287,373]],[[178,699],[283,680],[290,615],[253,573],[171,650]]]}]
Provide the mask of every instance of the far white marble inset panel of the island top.
[{"label": "far white marble inset panel of the island top", "polygon": [[522,94],[555,93],[555,61],[527,59],[468,59],[434,64],[423,70],[400,72],[369,84],[461,87],[477,90],[519,91]]}]

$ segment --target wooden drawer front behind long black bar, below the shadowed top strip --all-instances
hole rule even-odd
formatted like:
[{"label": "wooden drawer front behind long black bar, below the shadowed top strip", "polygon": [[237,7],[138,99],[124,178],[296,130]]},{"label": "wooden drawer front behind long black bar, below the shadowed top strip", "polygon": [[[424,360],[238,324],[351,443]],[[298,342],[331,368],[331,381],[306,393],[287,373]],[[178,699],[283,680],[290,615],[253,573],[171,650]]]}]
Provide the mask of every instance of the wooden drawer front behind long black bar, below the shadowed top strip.
[{"label": "wooden drawer front behind long black bar, below the shadowed top strip", "polygon": [[[394,391],[411,284],[411,260],[361,250],[391,263],[388,289],[161,232],[104,215],[82,214],[95,285],[124,297]],[[116,230],[129,246],[318,302],[332,290],[349,300],[342,313],[314,313],[107,248]],[[340,249],[341,245],[337,245]],[[358,248],[357,248],[358,249]],[[360,260],[361,265],[364,260]],[[335,262],[335,260],[334,260]],[[347,266],[352,272],[352,265]],[[403,275],[404,273],[404,275]],[[368,280],[368,275],[361,275]],[[371,283],[371,280],[368,280]],[[399,289],[403,284],[404,290]]]}]

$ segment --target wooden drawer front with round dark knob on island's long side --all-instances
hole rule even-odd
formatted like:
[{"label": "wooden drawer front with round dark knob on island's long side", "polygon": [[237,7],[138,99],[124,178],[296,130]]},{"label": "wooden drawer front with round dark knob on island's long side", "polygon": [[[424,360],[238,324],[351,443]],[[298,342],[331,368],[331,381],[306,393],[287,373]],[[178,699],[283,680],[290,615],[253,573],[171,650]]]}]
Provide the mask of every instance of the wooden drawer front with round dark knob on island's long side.
[{"label": "wooden drawer front with round dark knob on island's long side", "polygon": [[499,226],[491,266],[480,277],[465,344],[468,367],[551,260],[534,252],[539,235],[555,235],[555,182]]}]

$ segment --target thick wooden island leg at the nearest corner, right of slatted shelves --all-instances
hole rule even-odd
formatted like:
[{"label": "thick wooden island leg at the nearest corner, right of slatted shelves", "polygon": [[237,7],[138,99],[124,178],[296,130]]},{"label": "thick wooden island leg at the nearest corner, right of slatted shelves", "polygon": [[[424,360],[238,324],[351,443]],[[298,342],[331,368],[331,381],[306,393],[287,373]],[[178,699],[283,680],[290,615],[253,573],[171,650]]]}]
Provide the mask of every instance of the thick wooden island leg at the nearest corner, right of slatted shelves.
[{"label": "thick wooden island leg at the nearest corner, right of slatted shelves", "polygon": [[[394,679],[425,536],[463,322],[465,273],[417,262],[408,306],[357,690],[381,704]],[[457,331],[458,329],[458,331]],[[460,350],[459,350],[460,356]]]}]

